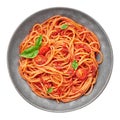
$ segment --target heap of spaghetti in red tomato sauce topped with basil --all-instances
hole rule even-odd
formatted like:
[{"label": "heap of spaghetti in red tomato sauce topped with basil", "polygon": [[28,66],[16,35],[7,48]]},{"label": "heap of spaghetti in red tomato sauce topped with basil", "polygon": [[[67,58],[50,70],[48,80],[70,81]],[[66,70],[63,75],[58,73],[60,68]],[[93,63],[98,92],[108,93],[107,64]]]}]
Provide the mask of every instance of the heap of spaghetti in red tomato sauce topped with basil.
[{"label": "heap of spaghetti in red tomato sauce topped with basil", "polygon": [[61,15],[34,24],[19,50],[21,77],[35,94],[57,102],[90,94],[103,61],[97,36]]}]

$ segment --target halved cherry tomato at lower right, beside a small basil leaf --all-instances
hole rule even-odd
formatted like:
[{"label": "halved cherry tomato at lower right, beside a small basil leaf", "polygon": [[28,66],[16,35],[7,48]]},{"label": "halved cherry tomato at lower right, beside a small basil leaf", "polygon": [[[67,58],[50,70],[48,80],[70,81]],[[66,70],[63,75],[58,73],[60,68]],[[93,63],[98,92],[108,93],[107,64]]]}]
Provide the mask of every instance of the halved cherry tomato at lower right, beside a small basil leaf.
[{"label": "halved cherry tomato at lower right, beside a small basil leaf", "polygon": [[85,80],[87,78],[87,70],[84,68],[79,68],[76,71],[76,76],[80,79],[80,80]]}]

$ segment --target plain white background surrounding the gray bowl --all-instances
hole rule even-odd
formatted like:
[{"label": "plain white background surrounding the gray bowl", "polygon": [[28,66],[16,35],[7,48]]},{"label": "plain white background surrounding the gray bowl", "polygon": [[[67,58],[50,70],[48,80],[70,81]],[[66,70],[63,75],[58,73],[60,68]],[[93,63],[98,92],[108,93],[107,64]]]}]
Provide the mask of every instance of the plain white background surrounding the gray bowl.
[{"label": "plain white background surrounding the gray bowl", "polygon": [[[1,0],[0,120],[120,120],[119,5],[119,0]],[[90,105],[73,112],[52,113],[33,107],[18,94],[8,74],[7,49],[14,31],[28,16],[50,7],[70,7],[89,14],[104,28],[113,47],[114,67],[106,89]]]}]

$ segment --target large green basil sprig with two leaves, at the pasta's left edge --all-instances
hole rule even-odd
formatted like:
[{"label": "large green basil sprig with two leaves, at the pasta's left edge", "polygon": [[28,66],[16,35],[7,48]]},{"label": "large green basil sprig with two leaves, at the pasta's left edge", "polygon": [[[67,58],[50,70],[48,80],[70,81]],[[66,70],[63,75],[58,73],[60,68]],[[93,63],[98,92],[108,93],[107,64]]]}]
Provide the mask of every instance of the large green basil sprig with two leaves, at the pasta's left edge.
[{"label": "large green basil sprig with two leaves, at the pasta's left edge", "polygon": [[37,56],[37,54],[39,53],[39,48],[42,44],[42,35],[40,35],[40,37],[38,37],[38,39],[35,42],[34,46],[31,46],[27,49],[25,49],[20,56],[24,57],[24,58],[34,58]]}]

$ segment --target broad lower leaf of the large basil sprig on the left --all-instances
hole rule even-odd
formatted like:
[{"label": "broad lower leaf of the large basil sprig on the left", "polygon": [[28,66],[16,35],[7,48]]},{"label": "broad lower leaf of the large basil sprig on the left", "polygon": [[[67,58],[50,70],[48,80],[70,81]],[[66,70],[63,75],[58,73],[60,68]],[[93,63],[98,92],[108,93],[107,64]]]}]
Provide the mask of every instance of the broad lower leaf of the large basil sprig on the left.
[{"label": "broad lower leaf of the large basil sprig on the left", "polygon": [[20,54],[20,56],[24,58],[34,58],[37,56],[38,53],[39,53],[39,50],[36,49],[30,52],[24,51],[23,53]]}]

